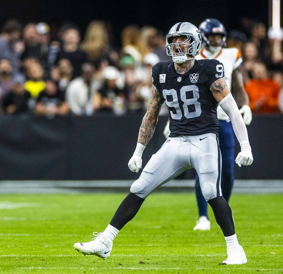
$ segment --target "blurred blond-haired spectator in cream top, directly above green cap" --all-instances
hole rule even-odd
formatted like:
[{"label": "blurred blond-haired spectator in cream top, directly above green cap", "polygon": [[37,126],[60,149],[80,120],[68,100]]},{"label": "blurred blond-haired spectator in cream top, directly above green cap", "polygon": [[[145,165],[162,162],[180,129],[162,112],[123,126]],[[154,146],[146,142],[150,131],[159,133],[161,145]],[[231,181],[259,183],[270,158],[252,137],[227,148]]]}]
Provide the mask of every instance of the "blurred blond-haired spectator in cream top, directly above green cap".
[{"label": "blurred blond-haired spectator in cream top, directly above green cap", "polygon": [[130,25],[125,27],[121,32],[121,40],[121,54],[130,55],[135,60],[136,66],[141,65],[142,44],[139,28],[136,25]]}]

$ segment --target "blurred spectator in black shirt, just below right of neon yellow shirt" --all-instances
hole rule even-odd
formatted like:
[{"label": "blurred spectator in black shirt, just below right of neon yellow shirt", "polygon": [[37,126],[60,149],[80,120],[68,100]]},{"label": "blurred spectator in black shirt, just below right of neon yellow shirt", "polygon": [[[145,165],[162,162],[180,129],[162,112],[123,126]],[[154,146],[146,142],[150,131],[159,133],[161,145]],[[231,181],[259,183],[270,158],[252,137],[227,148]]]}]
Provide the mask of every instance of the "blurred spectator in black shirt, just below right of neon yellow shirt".
[{"label": "blurred spectator in black shirt, just below right of neon yellow shirt", "polygon": [[55,115],[66,115],[68,111],[64,92],[57,89],[55,82],[47,80],[45,89],[38,95],[35,113],[51,118]]}]

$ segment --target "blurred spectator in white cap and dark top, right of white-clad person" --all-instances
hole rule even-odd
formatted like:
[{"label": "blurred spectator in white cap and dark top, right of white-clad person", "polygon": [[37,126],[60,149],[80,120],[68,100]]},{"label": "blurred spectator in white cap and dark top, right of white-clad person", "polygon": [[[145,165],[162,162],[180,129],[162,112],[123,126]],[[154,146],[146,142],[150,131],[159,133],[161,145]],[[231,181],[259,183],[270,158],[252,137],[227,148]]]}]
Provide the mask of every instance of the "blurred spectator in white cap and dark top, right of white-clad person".
[{"label": "blurred spectator in white cap and dark top, right of white-clad person", "polygon": [[116,80],[119,78],[119,70],[114,66],[108,66],[103,71],[105,85],[98,90],[98,112],[114,112],[121,115],[126,111],[125,90],[117,87]]}]

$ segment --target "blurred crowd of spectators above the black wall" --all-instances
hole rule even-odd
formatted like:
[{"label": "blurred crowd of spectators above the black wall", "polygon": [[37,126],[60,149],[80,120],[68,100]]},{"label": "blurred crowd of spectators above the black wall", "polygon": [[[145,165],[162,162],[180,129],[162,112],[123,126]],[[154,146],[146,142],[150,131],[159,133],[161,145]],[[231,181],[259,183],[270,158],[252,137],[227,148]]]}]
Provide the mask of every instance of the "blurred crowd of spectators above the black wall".
[{"label": "blurred crowd of spectators above the black wall", "polygon": [[[205,18],[203,18],[205,19]],[[151,68],[170,61],[165,36],[155,27],[129,25],[120,46],[112,28],[92,21],[82,38],[65,23],[55,31],[47,23],[10,19],[0,33],[1,114],[55,115],[144,113],[151,95]],[[254,113],[283,113],[281,31],[267,31],[243,19],[228,33],[227,47],[242,52],[245,89]],[[164,105],[160,115],[168,115]]]}]

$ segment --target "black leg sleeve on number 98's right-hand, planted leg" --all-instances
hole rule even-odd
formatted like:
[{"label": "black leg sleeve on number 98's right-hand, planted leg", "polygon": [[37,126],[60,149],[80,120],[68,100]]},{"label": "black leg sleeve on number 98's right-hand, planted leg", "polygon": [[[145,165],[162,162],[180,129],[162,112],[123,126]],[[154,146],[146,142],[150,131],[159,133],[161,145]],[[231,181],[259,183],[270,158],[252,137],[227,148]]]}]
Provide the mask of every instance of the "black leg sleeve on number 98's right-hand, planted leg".
[{"label": "black leg sleeve on number 98's right-hand, planted leg", "polygon": [[215,220],[220,226],[225,237],[235,234],[232,210],[223,196],[208,201],[211,206]]}]

